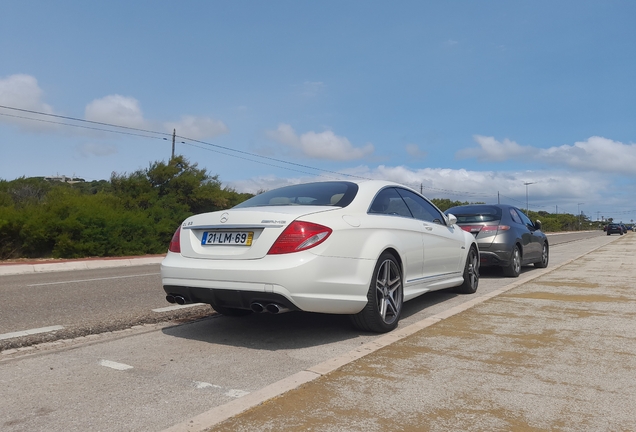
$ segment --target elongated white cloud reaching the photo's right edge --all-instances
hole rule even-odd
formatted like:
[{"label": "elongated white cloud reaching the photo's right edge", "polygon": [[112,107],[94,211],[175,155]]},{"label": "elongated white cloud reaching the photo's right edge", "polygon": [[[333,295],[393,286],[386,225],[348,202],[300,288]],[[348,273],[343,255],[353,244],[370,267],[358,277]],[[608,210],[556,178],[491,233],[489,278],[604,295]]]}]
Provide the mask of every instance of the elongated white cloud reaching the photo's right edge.
[{"label": "elongated white cloud reaching the photo's right edge", "polygon": [[481,135],[475,135],[474,139],[479,147],[458,151],[458,158],[476,158],[481,162],[535,161],[577,171],[636,176],[636,144],[593,136],[573,145],[539,148]]}]

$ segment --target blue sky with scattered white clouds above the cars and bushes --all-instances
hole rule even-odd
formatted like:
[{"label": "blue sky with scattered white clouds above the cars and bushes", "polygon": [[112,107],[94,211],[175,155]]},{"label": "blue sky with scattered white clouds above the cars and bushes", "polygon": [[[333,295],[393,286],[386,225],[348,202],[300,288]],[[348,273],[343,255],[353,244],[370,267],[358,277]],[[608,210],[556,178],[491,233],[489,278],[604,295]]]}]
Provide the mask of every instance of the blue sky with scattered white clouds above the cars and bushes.
[{"label": "blue sky with scattered white clouds above the cars and bushes", "polygon": [[353,175],[629,222],[635,20],[632,1],[5,0],[0,178],[130,173],[176,129],[239,191]]}]

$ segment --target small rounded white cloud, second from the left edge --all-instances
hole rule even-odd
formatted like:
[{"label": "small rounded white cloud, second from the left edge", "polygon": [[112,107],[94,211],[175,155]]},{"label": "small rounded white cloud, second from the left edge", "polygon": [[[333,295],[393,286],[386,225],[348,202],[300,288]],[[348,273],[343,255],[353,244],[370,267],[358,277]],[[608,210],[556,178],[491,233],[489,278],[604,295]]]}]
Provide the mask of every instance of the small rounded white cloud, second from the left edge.
[{"label": "small rounded white cloud, second from the left edge", "polygon": [[137,99],[109,95],[95,99],[86,106],[86,120],[133,128],[147,127]]}]

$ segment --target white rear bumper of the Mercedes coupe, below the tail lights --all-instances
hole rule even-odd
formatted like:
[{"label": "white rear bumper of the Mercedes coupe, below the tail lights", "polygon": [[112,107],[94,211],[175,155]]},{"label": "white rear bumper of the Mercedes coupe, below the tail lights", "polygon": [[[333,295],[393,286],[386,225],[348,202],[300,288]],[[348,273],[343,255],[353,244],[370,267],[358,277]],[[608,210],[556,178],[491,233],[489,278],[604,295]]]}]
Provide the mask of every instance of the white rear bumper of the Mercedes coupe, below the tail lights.
[{"label": "white rear bumper of the Mercedes coupe, below the tail lights", "polygon": [[249,309],[253,302],[292,310],[355,314],[367,304],[375,261],[310,252],[255,260],[206,260],[169,252],[161,264],[167,294],[187,302]]}]

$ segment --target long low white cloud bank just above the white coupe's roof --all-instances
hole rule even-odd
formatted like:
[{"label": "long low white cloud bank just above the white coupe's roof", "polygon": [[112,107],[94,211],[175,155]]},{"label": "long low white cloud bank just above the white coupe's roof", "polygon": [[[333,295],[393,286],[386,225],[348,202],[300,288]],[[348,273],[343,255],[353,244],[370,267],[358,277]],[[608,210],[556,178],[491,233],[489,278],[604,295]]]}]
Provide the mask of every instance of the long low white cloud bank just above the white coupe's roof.
[{"label": "long low white cloud bank just above the white coupe's roof", "polygon": [[[348,176],[349,174],[351,176]],[[576,214],[577,203],[585,202],[593,212],[595,206],[612,203],[606,197],[611,181],[601,174],[571,173],[567,171],[469,171],[465,169],[424,168],[411,169],[405,166],[380,165],[375,168],[357,166],[342,171],[340,177],[326,174],[323,177],[282,178],[275,176],[256,177],[230,181],[228,184],[240,192],[256,193],[289,184],[340,178],[369,178],[394,181],[422,190],[428,198],[448,198],[453,201],[485,202],[494,204],[498,200],[519,208],[526,207],[525,182],[529,185],[528,206],[534,211]]]}]

